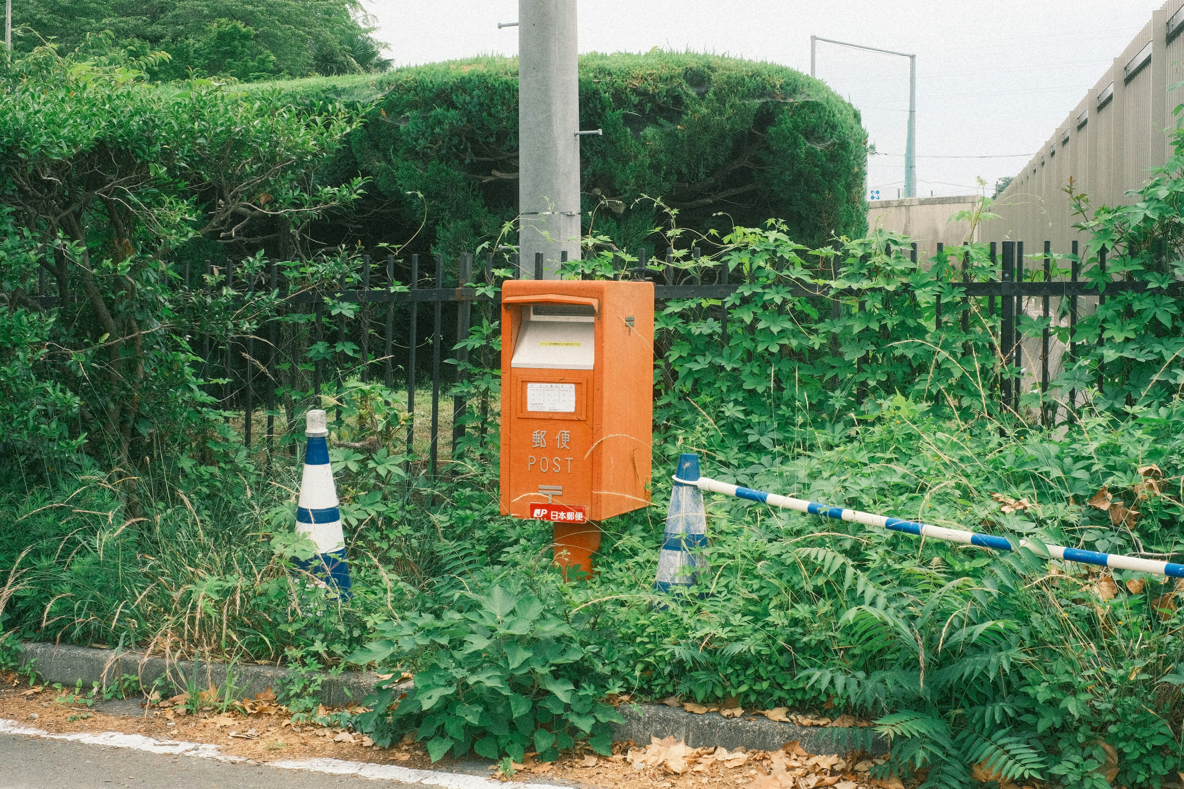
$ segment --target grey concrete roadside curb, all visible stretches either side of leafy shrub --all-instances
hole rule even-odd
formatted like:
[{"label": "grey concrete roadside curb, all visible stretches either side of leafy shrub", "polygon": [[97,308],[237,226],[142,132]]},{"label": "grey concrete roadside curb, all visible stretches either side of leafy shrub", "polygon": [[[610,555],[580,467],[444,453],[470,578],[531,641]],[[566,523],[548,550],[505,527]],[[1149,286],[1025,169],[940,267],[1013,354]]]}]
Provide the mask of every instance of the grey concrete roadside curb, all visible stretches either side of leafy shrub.
[{"label": "grey concrete roadside curb, all visible stretches either side of leafy shrub", "polygon": [[[227,669],[233,671],[233,682],[238,698],[251,698],[269,687],[278,691],[288,681],[290,672],[278,666],[240,665],[229,666],[198,661],[166,661],[155,655],[126,652],[117,654],[110,649],[54,646],[28,641],[21,644],[21,665],[33,663],[33,669],[46,682],[73,685],[82,680],[83,687],[91,682],[114,685],[123,674],[140,678],[140,685],[150,688],[160,682],[166,688],[184,691],[189,681],[206,688],[219,688],[226,682]],[[321,701],[326,706],[340,707],[361,700],[379,681],[374,672],[342,672],[339,676],[321,675]],[[725,718],[718,712],[694,714],[681,707],[664,704],[623,704],[618,712],[624,724],[613,727],[613,740],[631,739],[641,746],[649,745],[650,737],[669,737],[687,743],[690,748],[723,746],[735,750],[741,745],[749,751],[773,751],[785,743],[798,740],[811,753],[831,753],[836,750],[832,729],[823,726],[798,726],[778,723],[764,716]],[[876,736],[871,740],[871,753],[887,753],[888,740]]]}]

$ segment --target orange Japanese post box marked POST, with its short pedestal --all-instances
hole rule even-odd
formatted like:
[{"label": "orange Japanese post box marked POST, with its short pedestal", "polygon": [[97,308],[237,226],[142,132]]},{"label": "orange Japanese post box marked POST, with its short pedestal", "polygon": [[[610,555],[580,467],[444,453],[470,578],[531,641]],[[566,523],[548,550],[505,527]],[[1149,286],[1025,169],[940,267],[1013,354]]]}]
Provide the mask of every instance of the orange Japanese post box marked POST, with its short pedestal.
[{"label": "orange Japanese post box marked POST, with its short pedestal", "polygon": [[502,286],[502,514],[552,521],[565,571],[650,503],[652,392],[652,283]]}]

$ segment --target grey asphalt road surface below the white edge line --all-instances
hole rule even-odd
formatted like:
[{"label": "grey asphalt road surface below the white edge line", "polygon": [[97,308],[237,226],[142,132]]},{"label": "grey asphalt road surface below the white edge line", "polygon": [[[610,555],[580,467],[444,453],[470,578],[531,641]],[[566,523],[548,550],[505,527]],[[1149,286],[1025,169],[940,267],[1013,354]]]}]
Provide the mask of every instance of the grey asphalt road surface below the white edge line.
[{"label": "grey asphalt road surface below the white edge line", "polygon": [[0,789],[384,789],[393,781],[0,735]]}]

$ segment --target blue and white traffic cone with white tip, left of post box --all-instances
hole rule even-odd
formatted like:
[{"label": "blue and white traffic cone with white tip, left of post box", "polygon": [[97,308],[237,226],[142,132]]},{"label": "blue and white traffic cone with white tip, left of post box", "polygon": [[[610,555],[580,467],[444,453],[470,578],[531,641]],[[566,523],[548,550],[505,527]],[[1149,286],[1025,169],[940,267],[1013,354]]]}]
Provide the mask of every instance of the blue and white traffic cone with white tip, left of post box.
[{"label": "blue and white traffic cone with white tip, left of post box", "polygon": [[316,556],[295,564],[320,583],[349,597],[349,564],[346,562],[346,535],[341,531],[337,488],[333,483],[333,467],[329,466],[327,416],[321,410],[309,411],[307,419],[304,435],[308,436],[308,448],[304,450],[304,476],[296,507],[296,531],[316,544]]}]

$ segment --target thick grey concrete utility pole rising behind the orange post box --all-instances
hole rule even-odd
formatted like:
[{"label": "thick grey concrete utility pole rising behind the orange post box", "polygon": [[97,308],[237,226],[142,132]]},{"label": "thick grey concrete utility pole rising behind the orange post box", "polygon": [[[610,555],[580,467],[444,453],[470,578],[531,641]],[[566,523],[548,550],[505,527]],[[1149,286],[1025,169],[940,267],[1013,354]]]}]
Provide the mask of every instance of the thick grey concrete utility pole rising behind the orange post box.
[{"label": "thick grey concrete utility pole rising behind the orange post box", "polygon": [[519,252],[523,277],[543,254],[580,257],[580,128],[575,0],[519,0]]}]

